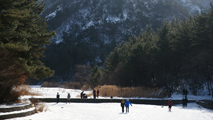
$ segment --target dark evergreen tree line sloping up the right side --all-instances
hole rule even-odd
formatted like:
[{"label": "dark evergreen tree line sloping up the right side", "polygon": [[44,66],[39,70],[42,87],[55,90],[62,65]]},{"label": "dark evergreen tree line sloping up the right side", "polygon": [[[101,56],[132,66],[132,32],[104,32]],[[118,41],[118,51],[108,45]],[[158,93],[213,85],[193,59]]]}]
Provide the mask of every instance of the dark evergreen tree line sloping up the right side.
[{"label": "dark evergreen tree line sloping up the right side", "polygon": [[105,84],[160,87],[168,92],[190,86],[196,94],[213,75],[213,6],[207,13],[182,21],[164,21],[162,27],[120,43],[104,68]]}]

